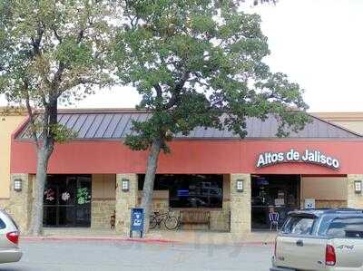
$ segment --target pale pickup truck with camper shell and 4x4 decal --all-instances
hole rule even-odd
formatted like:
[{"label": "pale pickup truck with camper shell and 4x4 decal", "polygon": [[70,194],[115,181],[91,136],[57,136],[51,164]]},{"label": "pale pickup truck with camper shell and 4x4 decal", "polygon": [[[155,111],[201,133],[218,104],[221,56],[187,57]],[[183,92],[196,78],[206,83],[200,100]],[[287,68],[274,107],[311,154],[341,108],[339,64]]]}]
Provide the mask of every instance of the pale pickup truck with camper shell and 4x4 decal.
[{"label": "pale pickup truck with camper shell and 4x4 decal", "polygon": [[363,271],[363,210],[299,210],[276,237],[270,271]]}]

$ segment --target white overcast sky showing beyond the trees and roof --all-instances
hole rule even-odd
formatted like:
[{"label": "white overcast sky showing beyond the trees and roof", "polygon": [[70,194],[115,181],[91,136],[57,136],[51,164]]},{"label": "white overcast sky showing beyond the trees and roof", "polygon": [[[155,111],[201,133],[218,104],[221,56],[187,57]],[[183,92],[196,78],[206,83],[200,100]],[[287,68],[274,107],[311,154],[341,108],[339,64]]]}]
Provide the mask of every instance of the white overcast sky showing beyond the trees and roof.
[{"label": "white overcast sky showing beyond the trees and roof", "polygon": [[[299,83],[309,111],[363,111],[363,0],[280,0],[249,12],[261,15],[269,38],[266,63]],[[73,107],[132,108],[139,101],[132,88],[113,87]]]}]

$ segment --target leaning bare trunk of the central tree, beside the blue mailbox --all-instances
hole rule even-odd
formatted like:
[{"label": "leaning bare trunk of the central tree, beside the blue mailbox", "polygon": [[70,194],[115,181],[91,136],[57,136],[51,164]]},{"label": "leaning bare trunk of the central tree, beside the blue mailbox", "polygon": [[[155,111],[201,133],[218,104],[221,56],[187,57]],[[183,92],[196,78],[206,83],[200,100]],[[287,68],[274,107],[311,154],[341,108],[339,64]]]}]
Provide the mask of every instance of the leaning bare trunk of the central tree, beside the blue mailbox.
[{"label": "leaning bare trunk of the central tree, beside the blue mailbox", "polygon": [[162,139],[153,140],[152,147],[149,152],[145,181],[143,183],[143,189],[142,189],[142,208],[144,208],[145,211],[145,225],[144,225],[145,233],[149,231],[150,213],[152,210],[153,183],[155,180],[155,173],[158,167],[158,159],[161,150],[162,150]]}]

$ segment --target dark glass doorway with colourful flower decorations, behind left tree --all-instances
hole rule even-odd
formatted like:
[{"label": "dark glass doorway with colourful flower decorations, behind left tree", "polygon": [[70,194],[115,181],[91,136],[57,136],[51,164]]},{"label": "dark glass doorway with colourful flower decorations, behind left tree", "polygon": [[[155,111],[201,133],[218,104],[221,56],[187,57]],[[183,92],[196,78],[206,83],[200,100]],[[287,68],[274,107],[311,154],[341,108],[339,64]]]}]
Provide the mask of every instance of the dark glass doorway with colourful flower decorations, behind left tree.
[{"label": "dark glass doorway with colourful flower decorations, behind left tree", "polygon": [[44,189],[44,227],[90,227],[90,175],[49,175]]}]

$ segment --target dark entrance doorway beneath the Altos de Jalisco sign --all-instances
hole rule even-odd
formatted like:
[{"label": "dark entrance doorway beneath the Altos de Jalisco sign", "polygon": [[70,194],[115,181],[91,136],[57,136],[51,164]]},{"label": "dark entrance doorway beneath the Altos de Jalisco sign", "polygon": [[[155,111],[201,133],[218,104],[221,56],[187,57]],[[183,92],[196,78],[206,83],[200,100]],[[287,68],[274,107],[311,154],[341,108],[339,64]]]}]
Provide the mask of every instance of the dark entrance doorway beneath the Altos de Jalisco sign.
[{"label": "dark entrance doorway beneath the Altos de Jalisco sign", "polygon": [[270,228],[269,213],[280,214],[281,225],[290,210],[299,208],[299,175],[251,176],[252,228]]}]

